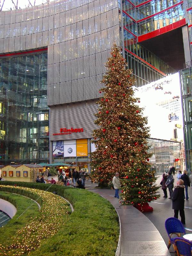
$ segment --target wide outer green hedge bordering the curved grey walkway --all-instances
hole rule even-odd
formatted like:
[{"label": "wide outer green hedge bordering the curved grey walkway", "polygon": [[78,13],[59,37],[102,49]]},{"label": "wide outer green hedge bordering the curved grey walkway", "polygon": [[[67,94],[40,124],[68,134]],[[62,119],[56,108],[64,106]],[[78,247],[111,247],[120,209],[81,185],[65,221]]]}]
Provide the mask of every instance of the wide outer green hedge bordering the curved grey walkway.
[{"label": "wide outer green hedge bordering the curved grey walkway", "polygon": [[[50,184],[28,182],[3,181],[0,184],[42,190],[50,187]],[[66,198],[73,205],[74,212],[54,236],[48,238],[30,255],[115,255],[119,237],[118,216],[106,199],[88,190],[59,185],[52,185],[47,191],[55,191]]]}]

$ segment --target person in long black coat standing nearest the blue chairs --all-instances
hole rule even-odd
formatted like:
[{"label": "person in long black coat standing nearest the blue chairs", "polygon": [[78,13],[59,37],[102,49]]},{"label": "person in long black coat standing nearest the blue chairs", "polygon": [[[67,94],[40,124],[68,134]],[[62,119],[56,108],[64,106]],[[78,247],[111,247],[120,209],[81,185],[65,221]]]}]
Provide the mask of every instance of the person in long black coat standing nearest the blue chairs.
[{"label": "person in long black coat standing nearest the blue chairs", "polygon": [[174,218],[178,219],[180,214],[181,222],[185,224],[185,212],[184,212],[184,188],[183,180],[177,181],[177,186],[172,194],[172,209],[174,210]]}]

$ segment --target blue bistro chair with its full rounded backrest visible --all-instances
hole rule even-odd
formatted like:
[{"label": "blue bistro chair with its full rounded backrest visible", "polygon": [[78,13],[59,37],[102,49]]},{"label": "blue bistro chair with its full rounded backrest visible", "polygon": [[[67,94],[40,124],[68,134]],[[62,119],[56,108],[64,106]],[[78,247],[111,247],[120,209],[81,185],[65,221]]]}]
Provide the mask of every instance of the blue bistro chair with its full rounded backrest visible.
[{"label": "blue bistro chair with its full rounded backrest visible", "polygon": [[171,245],[173,245],[173,248],[174,248],[172,235],[176,235],[177,237],[180,237],[181,235],[182,236],[185,235],[185,228],[183,224],[181,223],[180,220],[173,217],[165,220],[165,230],[169,237],[169,244],[167,245],[168,250]]}]

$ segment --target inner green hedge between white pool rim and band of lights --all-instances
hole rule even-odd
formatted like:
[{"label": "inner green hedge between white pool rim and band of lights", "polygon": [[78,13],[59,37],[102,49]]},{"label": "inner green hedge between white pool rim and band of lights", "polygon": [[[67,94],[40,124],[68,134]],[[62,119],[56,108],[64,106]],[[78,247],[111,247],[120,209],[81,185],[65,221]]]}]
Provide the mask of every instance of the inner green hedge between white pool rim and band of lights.
[{"label": "inner green hedge between white pool rim and band of lights", "polygon": [[[5,245],[12,242],[11,237],[18,229],[24,227],[31,218],[34,218],[38,214],[39,207],[37,204],[33,204],[28,211],[24,212],[31,205],[31,199],[3,191],[0,191],[0,198],[10,202],[17,209],[15,216],[1,228],[0,244]],[[22,213],[23,215],[21,215]],[[19,216],[20,218],[17,220]]]}]

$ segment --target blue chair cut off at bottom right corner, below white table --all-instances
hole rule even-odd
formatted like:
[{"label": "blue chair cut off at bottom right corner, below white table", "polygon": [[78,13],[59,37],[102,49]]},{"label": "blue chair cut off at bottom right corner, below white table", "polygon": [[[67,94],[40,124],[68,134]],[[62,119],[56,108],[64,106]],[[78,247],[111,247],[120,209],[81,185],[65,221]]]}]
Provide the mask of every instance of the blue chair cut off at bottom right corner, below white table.
[{"label": "blue chair cut off at bottom right corner, below white table", "polygon": [[175,237],[172,241],[178,256],[191,256],[192,242],[182,237]]}]

